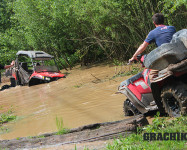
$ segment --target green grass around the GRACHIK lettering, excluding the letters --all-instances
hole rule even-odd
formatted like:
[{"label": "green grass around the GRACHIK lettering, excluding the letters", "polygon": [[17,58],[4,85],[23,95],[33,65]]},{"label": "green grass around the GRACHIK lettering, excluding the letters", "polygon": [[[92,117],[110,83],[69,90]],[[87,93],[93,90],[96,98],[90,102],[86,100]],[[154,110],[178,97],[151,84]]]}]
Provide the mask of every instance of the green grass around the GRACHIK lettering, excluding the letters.
[{"label": "green grass around the GRACHIK lettering, excluding the letters", "polygon": [[113,141],[113,144],[108,144],[108,150],[128,150],[128,149],[185,149],[187,148],[185,141],[144,141],[143,133],[186,133],[187,132],[187,117],[179,117],[171,120],[168,118],[155,117],[153,124],[148,125],[139,130],[138,134],[131,134],[126,138],[119,138]]}]

